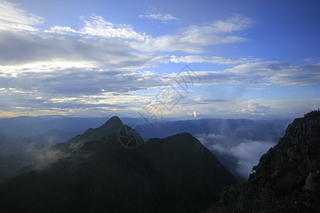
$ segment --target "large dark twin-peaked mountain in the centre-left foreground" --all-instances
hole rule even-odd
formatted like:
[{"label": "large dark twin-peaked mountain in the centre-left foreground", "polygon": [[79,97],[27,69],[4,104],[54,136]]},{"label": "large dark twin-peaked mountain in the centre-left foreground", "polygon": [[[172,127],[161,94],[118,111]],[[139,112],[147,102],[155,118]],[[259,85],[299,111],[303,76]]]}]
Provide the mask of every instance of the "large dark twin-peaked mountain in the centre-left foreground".
[{"label": "large dark twin-peaked mountain in the centre-left foreground", "polygon": [[58,144],[62,158],[2,180],[1,212],[200,212],[236,182],[189,133],[126,148],[121,126],[113,117]]}]

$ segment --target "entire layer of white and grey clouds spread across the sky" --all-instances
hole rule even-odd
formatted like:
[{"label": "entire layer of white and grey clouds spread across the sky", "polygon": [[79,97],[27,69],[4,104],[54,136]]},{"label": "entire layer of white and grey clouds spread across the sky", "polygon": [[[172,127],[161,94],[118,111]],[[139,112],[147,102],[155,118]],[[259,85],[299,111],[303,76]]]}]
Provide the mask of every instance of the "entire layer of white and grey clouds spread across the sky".
[{"label": "entire layer of white and grey clouds spread across the sky", "polygon": [[[169,13],[146,13],[140,18],[178,23]],[[68,114],[89,109],[125,109],[129,114],[130,110],[151,102],[160,89],[169,87],[169,82],[172,84],[170,79],[176,73],[171,68],[171,73],[156,69],[175,64],[219,67],[195,70],[201,81],[193,85],[193,96],[171,111],[185,116],[223,112],[220,109],[234,114],[262,115],[273,108],[272,103],[243,101],[235,96],[197,101],[201,98],[195,92],[198,87],[216,84],[236,88],[305,87],[320,82],[319,63],[294,65],[254,57],[212,55],[209,50],[213,45],[249,40],[237,33],[252,27],[255,21],[240,14],[183,26],[159,36],[137,31],[129,24],[111,23],[95,14],[80,16],[79,28],[58,25],[46,30],[37,28],[45,21],[16,4],[0,1],[0,116],[21,115],[23,111],[36,115],[39,110],[44,114],[50,110],[53,114],[57,111]],[[178,84],[174,86],[181,90]],[[128,104],[133,100],[138,107]],[[230,104],[225,105],[227,102],[233,103],[233,109],[229,109]],[[319,102],[311,105],[319,106]]]}]

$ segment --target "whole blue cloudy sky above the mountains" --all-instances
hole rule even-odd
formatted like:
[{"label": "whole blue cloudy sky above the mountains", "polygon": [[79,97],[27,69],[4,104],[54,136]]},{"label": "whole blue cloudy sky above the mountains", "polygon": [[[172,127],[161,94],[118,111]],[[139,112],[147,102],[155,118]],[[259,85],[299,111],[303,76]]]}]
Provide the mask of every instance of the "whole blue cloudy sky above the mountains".
[{"label": "whole blue cloudy sky above the mountains", "polygon": [[320,108],[320,1],[0,0],[0,118],[294,118]]}]

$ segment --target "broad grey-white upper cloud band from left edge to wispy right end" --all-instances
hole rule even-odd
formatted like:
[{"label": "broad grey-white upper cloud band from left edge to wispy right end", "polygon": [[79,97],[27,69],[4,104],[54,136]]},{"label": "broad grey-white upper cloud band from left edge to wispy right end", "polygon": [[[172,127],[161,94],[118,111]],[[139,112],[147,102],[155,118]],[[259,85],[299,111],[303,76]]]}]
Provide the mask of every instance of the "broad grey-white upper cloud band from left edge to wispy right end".
[{"label": "broad grey-white upper cloud band from left edge to wispy right end", "polygon": [[[25,13],[14,7],[11,9],[18,11],[18,13]],[[18,18],[18,21],[23,24],[43,22],[40,17],[31,15],[29,15],[30,20],[28,16],[23,15],[22,18]],[[146,35],[144,32],[136,32],[129,25],[114,25],[97,15],[92,15],[89,19],[81,16],[80,19],[84,25],[78,30],[69,26],[54,26],[43,33],[5,30],[0,31],[0,62],[2,66],[27,65],[30,67],[30,64],[36,63],[51,67],[66,65],[68,67],[108,67],[110,70],[137,70],[143,67],[154,67],[161,62],[169,61],[166,55],[155,53],[156,51],[202,52],[203,47],[208,45],[234,42],[238,38],[233,40],[234,36],[214,34],[230,33],[245,28],[245,24],[240,24],[238,28],[232,25],[233,22],[241,23],[239,20],[247,22],[247,18],[236,17],[225,21],[225,25],[233,30],[223,30],[223,22],[218,21],[213,24],[213,26],[216,25],[215,27],[201,27],[214,28],[215,30],[203,31],[203,29],[199,30],[197,26],[190,26],[180,35],[164,35],[156,38],[152,38],[151,35]],[[10,18],[6,19],[10,20]],[[171,57],[172,62],[233,63],[232,60],[218,57],[196,55],[184,58],[174,57]],[[12,70],[16,69],[16,67],[12,68]]]}]

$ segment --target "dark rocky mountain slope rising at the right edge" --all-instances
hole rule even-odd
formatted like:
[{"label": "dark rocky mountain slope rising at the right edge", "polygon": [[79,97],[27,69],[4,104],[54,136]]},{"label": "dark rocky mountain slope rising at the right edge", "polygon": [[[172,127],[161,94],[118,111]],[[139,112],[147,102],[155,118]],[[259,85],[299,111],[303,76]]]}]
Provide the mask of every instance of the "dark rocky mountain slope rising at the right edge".
[{"label": "dark rocky mountain slope rising at the right edge", "polygon": [[320,111],[295,119],[252,170],[208,212],[320,212]]}]

